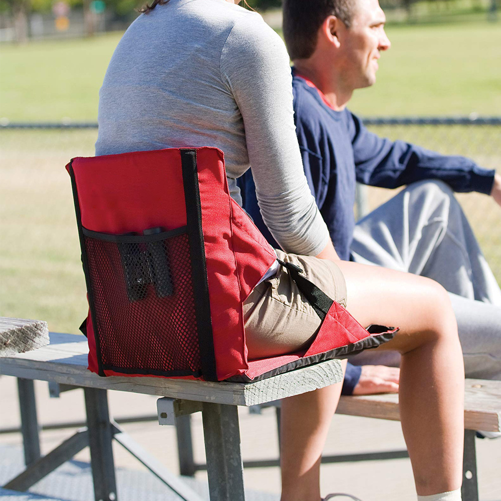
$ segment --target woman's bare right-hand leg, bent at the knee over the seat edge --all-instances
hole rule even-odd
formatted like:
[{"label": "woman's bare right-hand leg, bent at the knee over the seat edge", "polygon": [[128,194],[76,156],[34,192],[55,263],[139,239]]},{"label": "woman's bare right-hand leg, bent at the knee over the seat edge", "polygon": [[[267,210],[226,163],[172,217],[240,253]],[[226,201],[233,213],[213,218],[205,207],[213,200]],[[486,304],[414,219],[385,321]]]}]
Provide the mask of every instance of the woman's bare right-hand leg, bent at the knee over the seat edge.
[{"label": "woman's bare right-hand leg, bent at the knee over the seat edge", "polygon": [[445,290],[414,275],[339,264],[348,310],[362,324],[400,326],[379,348],[397,350],[400,418],[418,494],[461,485],[464,369],[457,325]]}]

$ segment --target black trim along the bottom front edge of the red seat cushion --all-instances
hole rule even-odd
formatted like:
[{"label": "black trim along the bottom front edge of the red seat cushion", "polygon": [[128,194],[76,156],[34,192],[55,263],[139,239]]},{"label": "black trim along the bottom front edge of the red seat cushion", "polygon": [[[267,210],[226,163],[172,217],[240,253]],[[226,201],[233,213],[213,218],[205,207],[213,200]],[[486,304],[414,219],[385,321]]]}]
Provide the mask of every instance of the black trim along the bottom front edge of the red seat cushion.
[{"label": "black trim along the bottom front edge of the red seat cushion", "polygon": [[230,381],[232,383],[253,383],[255,381],[261,381],[262,379],[268,379],[269,377],[277,376],[278,374],[283,374],[284,372],[300,369],[301,367],[319,364],[320,362],[325,362],[326,360],[333,360],[336,358],[344,359],[348,355],[356,355],[363,350],[377,348],[383,343],[386,343],[387,341],[393,339],[393,336],[397,332],[398,329],[395,329],[391,332],[375,334],[350,345],[340,346],[339,348],[335,348],[334,350],[325,351],[316,355],[310,355],[309,357],[303,357],[289,364],[277,367],[272,371],[265,372],[264,374],[261,374],[254,379],[250,379],[248,376],[233,376],[226,379],[225,381]]}]

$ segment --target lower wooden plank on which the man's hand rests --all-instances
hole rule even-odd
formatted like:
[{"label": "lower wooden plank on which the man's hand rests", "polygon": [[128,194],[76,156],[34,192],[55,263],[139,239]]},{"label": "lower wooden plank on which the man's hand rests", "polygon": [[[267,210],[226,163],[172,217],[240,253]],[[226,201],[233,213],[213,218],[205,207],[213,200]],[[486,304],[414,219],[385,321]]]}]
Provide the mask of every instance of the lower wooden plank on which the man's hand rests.
[{"label": "lower wooden plank on which the man's hand rests", "polygon": [[[400,420],[397,394],[341,397],[336,412]],[[464,427],[468,430],[501,431],[501,381],[466,379]]]}]

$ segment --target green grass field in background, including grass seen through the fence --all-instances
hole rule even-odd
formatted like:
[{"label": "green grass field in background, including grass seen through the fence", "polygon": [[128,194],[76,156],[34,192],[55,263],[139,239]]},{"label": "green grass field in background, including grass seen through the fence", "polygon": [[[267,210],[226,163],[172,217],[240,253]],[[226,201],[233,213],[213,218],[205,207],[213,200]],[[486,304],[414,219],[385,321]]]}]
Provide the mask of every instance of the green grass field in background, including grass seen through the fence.
[{"label": "green grass field in background, including grass seen through the fence", "polygon": [[[373,115],[501,115],[501,30],[475,23],[390,27],[392,49],[378,83],[352,109]],[[98,90],[119,34],[91,40],[2,46],[0,117],[11,121],[95,121]],[[378,128],[444,153],[501,165],[500,127]],[[85,283],[69,176],[71,157],[92,155],[96,130],[0,132],[0,313],[43,319],[76,333]],[[389,196],[375,191],[374,206]],[[461,197],[501,281],[501,211],[488,197]]]}]

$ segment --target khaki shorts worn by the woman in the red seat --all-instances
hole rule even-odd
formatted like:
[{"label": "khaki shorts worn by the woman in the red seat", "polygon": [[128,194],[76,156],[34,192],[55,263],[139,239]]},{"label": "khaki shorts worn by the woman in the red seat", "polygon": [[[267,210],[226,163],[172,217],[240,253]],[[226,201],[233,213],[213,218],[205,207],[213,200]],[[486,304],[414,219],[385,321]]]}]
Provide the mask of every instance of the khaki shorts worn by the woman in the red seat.
[{"label": "khaki shorts worn by the woman in the red seat", "polygon": [[[346,284],[335,263],[282,250],[277,255],[301,267],[308,280],[346,308]],[[249,359],[298,351],[313,341],[320,327],[319,316],[283,267],[250,293],[243,304],[243,320]]]}]

